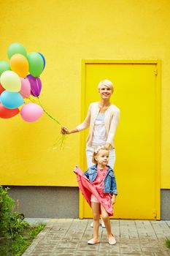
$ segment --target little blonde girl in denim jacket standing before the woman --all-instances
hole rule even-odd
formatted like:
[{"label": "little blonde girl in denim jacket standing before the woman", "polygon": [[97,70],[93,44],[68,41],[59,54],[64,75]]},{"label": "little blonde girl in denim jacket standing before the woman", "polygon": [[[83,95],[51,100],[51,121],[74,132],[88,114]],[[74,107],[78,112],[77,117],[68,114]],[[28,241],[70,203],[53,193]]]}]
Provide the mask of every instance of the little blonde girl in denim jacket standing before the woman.
[{"label": "little blonde girl in denim jacket standing before the woman", "polygon": [[113,215],[112,205],[116,201],[117,185],[115,174],[108,164],[109,149],[105,146],[98,146],[93,152],[93,165],[85,172],[85,176],[93,184],[98,192],[98,198],[91,195],[90,203],[93,211],[93,238],[88,241],[88,244],[99,243],[98,227],[100,213],[107,228],[109,244],[116,244],[115,236],[112,234],[109,216]]}]

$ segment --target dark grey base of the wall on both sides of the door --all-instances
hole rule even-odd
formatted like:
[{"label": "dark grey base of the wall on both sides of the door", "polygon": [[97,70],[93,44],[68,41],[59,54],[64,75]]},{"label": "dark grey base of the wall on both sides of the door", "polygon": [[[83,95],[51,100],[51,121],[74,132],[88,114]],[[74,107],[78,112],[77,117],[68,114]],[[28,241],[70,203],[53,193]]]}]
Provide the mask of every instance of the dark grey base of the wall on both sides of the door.
[{"label": "dark grey base of the wall on both sides of the door", "polygon": [[[78,187],[9,186],[9,195],[19,200],[27,218],[78,218]],[[170,189],[161,189],[161,219],[170,219]]]}]

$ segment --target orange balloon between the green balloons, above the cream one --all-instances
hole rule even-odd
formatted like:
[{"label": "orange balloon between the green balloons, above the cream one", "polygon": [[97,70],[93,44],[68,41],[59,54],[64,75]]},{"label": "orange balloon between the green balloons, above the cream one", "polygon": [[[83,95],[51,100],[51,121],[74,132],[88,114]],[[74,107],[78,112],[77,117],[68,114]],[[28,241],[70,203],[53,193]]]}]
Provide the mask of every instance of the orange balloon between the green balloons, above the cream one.
[{"label": "orange balloon between the green balloons, above the cream one", "polygon": [[20,78],[26,78],[26,75],[28,75],[29,64],[25,56],[16,53],[9,60],[9,64],[11,70],[17,73]]}]

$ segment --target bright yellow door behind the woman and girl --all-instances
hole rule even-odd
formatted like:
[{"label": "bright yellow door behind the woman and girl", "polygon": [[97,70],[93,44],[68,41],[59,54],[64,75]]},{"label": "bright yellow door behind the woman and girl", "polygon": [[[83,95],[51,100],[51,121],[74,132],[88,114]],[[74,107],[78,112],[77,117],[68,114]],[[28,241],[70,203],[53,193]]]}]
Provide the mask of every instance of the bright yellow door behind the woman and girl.
[{"label": "bright yellow door behind the woman and girl", "polygon": [[[83,61],[82,119],[98,101],[98,82],[112,80],[120,108],[115,136],[117,203],[114,218],[160,219],[160,83],[158,61]],[[88,131],[82,132],[85,148]],[[82,148],[81,146],[81,148]],[[83,153],[82,153],[83,154]],[[87,169],[85,153],[83,170]],[[80,195],[80,218],[91,218]]]}]

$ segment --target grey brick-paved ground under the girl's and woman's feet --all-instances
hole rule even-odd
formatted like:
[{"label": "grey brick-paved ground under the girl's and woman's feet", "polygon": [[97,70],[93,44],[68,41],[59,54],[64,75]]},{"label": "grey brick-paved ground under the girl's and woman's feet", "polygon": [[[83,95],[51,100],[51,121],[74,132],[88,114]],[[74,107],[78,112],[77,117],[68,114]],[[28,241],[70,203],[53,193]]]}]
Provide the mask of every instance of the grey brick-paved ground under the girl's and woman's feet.
[{"label": "grey brick-paved ground under the girl's and woman's feet", "polygon": [[[33,222],[34,219],[27,219]],[[170,239],[170,221],[111,220],[117,244],[109,245],[107,231],[100,227],[101,243],[88,245],[91,219],[44,219],[47,226],[23,256],[170,256],[164,241]]]}]

